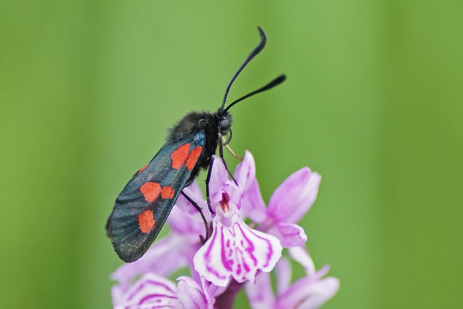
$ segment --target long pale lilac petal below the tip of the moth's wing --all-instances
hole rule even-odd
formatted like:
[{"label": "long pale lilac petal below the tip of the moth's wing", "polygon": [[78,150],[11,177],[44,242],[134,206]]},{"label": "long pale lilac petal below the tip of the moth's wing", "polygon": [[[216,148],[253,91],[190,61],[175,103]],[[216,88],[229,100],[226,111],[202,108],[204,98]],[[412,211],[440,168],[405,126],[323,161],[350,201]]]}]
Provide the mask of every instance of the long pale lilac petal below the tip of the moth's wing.
[{"label": "long pale lilac petal below the tip of the moth's wing", "polygon": [[146,272],[168,276],[187,265],[188,261],[182,251],[190,246],[190,241],[186,236],[171,234],[157,241],[140,259],[120,266],[111,275],[111,279],[119,281],[125,291],[133,278]]}]

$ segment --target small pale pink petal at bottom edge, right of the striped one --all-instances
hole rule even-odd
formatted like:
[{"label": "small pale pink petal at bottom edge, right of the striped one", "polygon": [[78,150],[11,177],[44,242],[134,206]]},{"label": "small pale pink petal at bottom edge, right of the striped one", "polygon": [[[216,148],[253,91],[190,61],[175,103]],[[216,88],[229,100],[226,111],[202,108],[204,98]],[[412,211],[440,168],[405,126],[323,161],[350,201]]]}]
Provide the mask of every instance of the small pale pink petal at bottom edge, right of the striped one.
[{"label": "small pale pink petal at bottom edge, right of the striped one", "polygon": [[206,296],[202,287],[190,277],[178,277],[177,296],[183,308],[208,309]]}]

